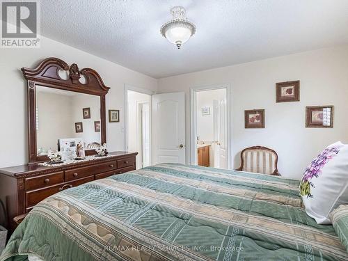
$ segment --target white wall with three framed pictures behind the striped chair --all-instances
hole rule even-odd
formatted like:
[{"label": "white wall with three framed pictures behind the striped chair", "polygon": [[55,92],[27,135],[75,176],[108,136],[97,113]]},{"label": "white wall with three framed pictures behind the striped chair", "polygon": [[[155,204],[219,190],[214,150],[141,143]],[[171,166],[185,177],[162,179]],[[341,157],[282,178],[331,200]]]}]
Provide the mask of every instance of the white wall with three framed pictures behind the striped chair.
[{"label": "white wall with three framed pictures behind the striped chair", "polygon": [[[301,101],[276,103],[276,82],[301,81]],[[263,61],[159,79],[159,93],[185,91],[187,163],[190,162],[189,89],[230,83],[232,86],[232,155],[251,145],[274,148],[279,171],[300,178],[326,145],[348,143],[348,46],[320,49]],[[305,128],[305,108],[334,105],[333,129]],[[265,129],[244,129],[244,110],[265,109]]]}]

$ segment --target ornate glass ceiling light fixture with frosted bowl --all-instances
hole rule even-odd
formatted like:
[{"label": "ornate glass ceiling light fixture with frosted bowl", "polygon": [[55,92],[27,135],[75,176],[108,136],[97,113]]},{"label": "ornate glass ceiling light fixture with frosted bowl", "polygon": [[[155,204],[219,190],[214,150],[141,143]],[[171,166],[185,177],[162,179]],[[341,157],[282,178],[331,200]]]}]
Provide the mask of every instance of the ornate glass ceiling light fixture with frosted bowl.
[{"label": "ornate glass ceiling light fixture with frosted bowl", "polygon": [[186,10],[182,6],[171,8],[171,14],[173,19],[162,25],[161,35],[180,49],[196,33],[196,26],[187,20]]}]

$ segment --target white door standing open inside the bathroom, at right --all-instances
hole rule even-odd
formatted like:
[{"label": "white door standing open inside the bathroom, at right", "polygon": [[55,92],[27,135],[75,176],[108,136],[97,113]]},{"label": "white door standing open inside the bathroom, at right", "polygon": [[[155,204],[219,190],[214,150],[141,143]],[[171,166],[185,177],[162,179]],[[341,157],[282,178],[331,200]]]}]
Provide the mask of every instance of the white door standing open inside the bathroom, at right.
[{"label": "white door standing open inside the bathroom, at right", "polygon": [[227,161],[227,111],[226,99],[219,102],[219,168],[228,168]]}]

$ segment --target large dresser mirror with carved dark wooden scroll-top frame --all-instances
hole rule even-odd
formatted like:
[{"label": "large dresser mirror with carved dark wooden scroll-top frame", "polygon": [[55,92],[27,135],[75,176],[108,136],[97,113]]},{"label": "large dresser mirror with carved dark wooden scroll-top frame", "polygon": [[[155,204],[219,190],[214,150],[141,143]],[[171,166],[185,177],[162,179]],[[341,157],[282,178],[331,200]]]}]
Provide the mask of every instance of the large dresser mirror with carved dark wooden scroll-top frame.
[{"label": "large dresser mirror with carved dark wooden scroll-top frame", "polygon": [[29,164],[47,161],[49,150],[75,152],[77,144],[94,155],[106,143],[109,87],[95,70],[47,58],[22,72],[28,88]]}]

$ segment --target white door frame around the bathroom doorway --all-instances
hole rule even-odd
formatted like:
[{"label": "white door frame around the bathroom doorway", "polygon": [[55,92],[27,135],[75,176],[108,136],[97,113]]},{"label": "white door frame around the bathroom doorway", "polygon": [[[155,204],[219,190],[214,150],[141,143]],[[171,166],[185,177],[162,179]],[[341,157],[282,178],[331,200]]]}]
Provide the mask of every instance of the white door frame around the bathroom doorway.
[{"label": "white door frame around the bathroom doorway", "polygon": [[226,112],[227,112],[227,159],[228,168],[232,169],[232,88],[230,84],[214,84],[208,86],[196,86],[190,88],[191,99],[191,165],[198,164],[197,157],[197,93],[202,90],[226,89]]}]

